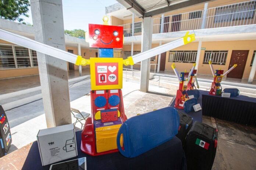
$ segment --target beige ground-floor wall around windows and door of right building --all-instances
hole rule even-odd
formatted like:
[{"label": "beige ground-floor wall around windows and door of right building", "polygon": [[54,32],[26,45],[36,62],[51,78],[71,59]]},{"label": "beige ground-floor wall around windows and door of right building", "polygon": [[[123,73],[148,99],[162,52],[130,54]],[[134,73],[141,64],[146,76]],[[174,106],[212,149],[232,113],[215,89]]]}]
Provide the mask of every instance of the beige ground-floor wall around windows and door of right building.
[{"label": "beige ground-floor wall around windows and door of right building", "polygon": [[[206,48],[206,51],[211,50],[227,50],[227,60],[225,65],[213,65],[214,70],[215,69],[223,69],[224,72],[228,70],[232,50],[249,50],[248,58],[245,65],[245,71],[243,72],[243,78],[248,79],[250,74],[250,62],[252,60],[253,51],[256,50],[255,47],[256,40],[243,40],[243,41],[211,41],[211,42],[202,42],[202,48]],[[198,42],[192,42],[189,44],[186,44],[184,46],[175,48],[173,50],[194,50],[197,51],[198,48]],[[198,66],[198,74],[207,74],[211,75],[211,70],[209,67],[209,64],[203,64],[203,58],[204,58],[205,50],[201,50],[200,53],[200,60],[199,60],[199,66]],[[169,52],[166,54],[166,71],[173,71],[171,69],[172,62],[168,62],[169,58]],[[175,63],[177,70],[184,71],[191,69],[192,63]],[[256,75],[255,75],[256,79]]]}]

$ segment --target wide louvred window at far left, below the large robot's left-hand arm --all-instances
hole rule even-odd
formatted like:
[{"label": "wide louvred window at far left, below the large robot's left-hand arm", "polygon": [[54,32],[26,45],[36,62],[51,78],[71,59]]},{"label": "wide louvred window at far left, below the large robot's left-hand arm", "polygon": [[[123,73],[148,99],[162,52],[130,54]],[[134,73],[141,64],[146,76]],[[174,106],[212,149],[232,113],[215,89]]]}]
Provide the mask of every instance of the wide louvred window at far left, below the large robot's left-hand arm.
[{"label": "wide louvred window at far left, below the large robot's left-hand arm", "polygon": [[36,51],[17,45],[0,45],[0,69],[37,67]]}]

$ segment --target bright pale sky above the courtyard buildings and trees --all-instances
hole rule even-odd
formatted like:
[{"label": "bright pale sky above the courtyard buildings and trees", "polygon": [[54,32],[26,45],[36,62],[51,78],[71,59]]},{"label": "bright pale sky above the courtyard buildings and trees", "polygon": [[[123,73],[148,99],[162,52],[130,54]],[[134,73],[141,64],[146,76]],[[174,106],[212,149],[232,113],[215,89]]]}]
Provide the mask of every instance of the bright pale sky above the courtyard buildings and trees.
[{"label": "bright pale sky above the courtyard buildings and trees", "polygon": [[[88,24],[103,24],[105,7],[117,3],[115,0],[62,0],[64,29],[88,30]],[[33,24],[31,9],[29,18],[21,16],[24,22]]]}]

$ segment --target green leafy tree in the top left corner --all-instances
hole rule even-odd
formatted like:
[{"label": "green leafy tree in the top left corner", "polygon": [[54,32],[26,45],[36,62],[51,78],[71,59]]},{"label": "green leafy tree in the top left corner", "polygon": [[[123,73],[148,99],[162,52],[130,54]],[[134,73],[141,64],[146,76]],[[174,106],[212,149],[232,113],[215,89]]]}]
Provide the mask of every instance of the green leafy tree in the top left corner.
[{"label": "green leafy tree in the top left corner", "polygon": [[28,0],[0,0],[0,18],[22,22],[24,19],[20,18],[21,15],[29,17],[26,14],[29,6]]}]

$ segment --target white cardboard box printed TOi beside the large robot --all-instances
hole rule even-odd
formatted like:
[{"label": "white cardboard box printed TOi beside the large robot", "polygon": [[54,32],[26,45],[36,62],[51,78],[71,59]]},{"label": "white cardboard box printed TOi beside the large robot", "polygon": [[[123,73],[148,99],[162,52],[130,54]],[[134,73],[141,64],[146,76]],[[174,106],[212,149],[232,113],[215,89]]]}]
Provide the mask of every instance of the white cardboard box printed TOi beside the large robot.
[{"label": "white cardboard box printed TOi beside the large robot", "polygon": [[37,139],[43,166],[77,156],[74,124],[39,130]]}]

